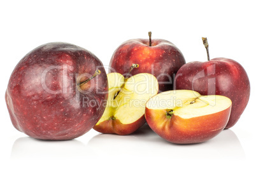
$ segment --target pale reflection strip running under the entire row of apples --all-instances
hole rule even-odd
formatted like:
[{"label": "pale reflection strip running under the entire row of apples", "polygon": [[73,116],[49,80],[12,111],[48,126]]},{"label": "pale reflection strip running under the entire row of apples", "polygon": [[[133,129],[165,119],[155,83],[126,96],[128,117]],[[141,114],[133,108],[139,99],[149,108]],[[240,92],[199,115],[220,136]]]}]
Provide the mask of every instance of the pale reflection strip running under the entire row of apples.
[{"label": "pale reflection strip running under the entire row of apples", "polygon": [[147,125],[136,133],[127,136],[96,132],[90,134],[92,134],[92,138],[85,142],[79,141],[83,138],[69,141],[18,138],[13,143],[11,160],[90,158],[109,162],[113,158],[124,159],[127,157],[144,157],[145,159],[148,157],[172,157],[173,159],[245,158],[245,152],[238,137],[230,129],[222,131],[212,140],[194,145],[169,143],[155,134]]}]

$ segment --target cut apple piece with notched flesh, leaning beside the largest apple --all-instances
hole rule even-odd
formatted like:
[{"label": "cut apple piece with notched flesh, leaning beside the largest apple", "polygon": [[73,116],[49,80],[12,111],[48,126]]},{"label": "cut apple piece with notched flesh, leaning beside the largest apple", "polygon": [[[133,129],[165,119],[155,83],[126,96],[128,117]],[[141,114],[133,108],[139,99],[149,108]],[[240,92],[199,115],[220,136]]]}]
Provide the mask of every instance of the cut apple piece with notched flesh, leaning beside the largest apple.
[{"label": "cut apple piece with notched flesh, leaning beside the largest apple", "polygon": [[159,85],[152,74],[141,73],[125,79],[113,72],[108,76],[108,101],[94,129],[101,133],[131,134],[145,124],[145,105],[157,94]]}]

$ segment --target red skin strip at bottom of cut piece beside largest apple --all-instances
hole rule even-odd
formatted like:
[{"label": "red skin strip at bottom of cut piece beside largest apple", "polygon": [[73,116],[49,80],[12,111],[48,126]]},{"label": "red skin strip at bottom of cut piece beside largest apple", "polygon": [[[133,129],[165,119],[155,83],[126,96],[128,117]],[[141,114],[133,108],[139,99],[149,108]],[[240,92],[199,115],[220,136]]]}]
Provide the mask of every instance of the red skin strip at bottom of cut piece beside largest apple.
[{"label": "red skin strip at bottom of cut piece beside largest apple", "polygon": [[100,133],[127,135],[134,133],[134,131],[143,126],[145,122],[145,115],[142,115],[137,121],[132,122],[131,124],[122,124],[118,119],[110,119],[94,126],[94,130]]}]

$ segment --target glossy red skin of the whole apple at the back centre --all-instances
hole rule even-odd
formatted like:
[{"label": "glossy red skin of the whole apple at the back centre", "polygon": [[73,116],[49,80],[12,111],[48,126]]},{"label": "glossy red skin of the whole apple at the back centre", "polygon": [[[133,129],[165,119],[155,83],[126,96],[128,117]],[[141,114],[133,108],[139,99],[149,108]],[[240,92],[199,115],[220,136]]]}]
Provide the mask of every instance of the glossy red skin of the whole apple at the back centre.
[{"label": "glossy red skin of the whole apple at the back centre", "polygon": [[113,53],[110,60],[109,72],[126,75],[132,63],[139,64],[131,75],[149,73],[159,81],[159,93],[173,89],[176,72],[185,64],[180,49],[173,43],[163,39],[131,39],[121,44]]}]

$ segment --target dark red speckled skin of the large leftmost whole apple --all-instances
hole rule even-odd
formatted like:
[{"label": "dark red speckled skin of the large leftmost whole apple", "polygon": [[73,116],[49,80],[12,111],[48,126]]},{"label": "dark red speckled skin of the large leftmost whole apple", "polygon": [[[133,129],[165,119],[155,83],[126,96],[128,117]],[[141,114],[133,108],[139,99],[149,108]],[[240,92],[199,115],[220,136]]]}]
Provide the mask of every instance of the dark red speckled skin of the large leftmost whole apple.
[{"label": "dark red speckled skin of the large leftmost whole apple", "polygon": [[[43,76],[50,67],[59,69],[50,69]],[[92,91],[77,91],[78,74],[93,75],[97,69],[101,74],[87,83]],[[67,76],[65,86],[63,76]],[[103,115],[108,81],[103,64],[94,54],[73,44],[52,42],[20,60],[11,74],[5,98],[11,122],[18,131],[41,140],[71,140],[89,131]],[[87,100],[99,104],[83,103]]]}]

